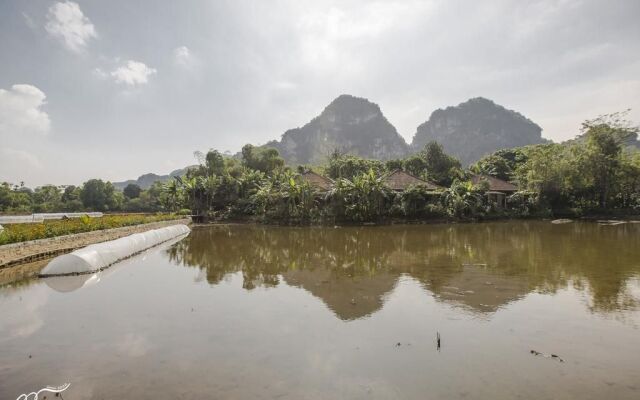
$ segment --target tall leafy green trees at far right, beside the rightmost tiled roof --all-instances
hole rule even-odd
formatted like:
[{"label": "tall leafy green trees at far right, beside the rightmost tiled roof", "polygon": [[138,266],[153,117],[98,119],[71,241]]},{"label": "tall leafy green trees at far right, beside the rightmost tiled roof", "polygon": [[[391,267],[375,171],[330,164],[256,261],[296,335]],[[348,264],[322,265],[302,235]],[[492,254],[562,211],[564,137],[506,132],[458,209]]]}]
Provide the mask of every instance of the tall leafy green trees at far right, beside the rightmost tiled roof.
[{"label": "tall leafy green trees at far right, beside the rightmost tiled roof", "polygon": [[621,114],[605,115],[576,140],[501,150],[472,169],[517,182],[554,214],[639,213],[640,152],[625,146],[637,134]]}]

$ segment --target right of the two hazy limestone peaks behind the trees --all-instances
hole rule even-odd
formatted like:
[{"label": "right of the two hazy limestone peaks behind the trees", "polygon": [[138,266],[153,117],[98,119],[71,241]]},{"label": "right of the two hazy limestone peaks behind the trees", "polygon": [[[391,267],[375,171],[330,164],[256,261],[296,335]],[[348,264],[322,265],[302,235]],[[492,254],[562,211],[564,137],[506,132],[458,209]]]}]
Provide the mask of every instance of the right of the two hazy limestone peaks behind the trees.
[{"label": "right of the two hazy limestone peaks behind the trees", "polygon": [[496,150],[546,142],[542,129],[515,111],[482,97],[455,107],[436,110],[429,120],[418,126],[413,151],[430,141],[469,165]]}]

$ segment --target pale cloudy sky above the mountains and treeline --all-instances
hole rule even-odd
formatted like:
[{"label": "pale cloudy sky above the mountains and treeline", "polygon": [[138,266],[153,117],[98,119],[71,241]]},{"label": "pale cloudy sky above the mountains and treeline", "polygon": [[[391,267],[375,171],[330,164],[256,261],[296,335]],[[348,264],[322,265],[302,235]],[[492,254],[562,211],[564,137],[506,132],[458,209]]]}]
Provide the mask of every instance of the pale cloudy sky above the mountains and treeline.
[{"label": "pale cloudy sky above the mountains and treeline", "polygon": [[563,141],[631,109],[640,1],[0,1],[0,181],[166,174],[304,125],[340,94],[411,141],[486,97]]}]

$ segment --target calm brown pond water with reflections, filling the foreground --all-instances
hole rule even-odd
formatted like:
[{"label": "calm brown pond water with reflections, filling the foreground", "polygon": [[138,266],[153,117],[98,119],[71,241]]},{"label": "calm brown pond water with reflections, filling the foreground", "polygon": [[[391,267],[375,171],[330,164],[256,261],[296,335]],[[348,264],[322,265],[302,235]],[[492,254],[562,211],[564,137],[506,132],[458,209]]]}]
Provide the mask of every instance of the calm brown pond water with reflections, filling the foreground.
[{"label": "calm brown pond water with reflections, filling the foreground", "polygon": [[0,286],[0,399],[64,382],[67,400],[639,399],[640,224],[215,226]]}]

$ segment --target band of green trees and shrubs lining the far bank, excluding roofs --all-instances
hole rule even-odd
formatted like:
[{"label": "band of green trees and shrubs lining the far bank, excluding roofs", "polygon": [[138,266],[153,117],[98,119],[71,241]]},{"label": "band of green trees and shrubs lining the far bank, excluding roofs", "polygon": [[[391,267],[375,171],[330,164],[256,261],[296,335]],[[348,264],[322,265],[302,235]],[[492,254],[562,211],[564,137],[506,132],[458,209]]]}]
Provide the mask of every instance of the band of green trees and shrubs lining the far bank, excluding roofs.
[{"label": "band of green trees and shrubs lining the far bank, excluding roofs", "polygon": [[[626,146],[638,127],[624,113],[585,121],[575,140],[499,150],[469,169],[436,142],[403,159],[380,161],[334,150],[324,165],[288,166],[278,151],[246,145],[240,155],[199,154],[184,176],[120,192],[92,179],[82,187],[43,186],[32,191],[0,186],[0,211],[166,211],[213,219],[260,222],[363,223],[391,219],[473,220],[503,217],[634,215],[640,213],[640,152]],[[417,185],[393,192],[384,177],[397,169],[442,187]],[[313,170],[333,180],[319,192],[301,174]],[[501,208],[471,174],[517,184]]]}]

